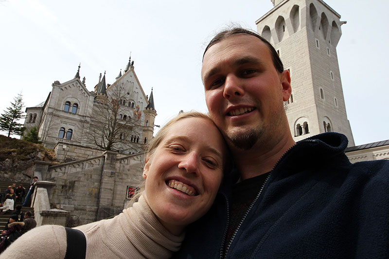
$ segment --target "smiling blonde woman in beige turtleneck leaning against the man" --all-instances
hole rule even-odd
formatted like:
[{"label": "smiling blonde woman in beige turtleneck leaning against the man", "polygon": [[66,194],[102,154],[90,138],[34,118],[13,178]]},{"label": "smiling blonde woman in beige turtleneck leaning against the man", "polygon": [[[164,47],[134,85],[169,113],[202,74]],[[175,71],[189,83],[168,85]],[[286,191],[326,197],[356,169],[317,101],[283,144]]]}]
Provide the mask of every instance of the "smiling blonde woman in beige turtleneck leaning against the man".
[{"label": "smiling blonde woman in beige turtleneck leaning against the man", "polygon": [[[179,250],[185,226],[211,207],[227,146],[202,113],[178,115],[150,142],[138,202],[109,220],[76,227],[87,240],[86,258],[170,258]],[[24,258],[64,258],[66,231],[44,225],[21,236],[2,254]]]}]

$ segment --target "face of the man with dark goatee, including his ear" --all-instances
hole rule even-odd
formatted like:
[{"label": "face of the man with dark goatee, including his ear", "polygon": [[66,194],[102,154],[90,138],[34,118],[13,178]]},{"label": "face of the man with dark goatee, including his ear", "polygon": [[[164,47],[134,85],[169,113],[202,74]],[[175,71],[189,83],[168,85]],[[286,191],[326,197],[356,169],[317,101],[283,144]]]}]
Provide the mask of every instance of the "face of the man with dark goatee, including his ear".
[{"label": "face of the man with dark goatee, including his ear", "polygon": [[277,72],[268,47],[252,35],[232,35],[208,49],[201,77],[212,120],[240,149],[282,134],[288,71]]}]

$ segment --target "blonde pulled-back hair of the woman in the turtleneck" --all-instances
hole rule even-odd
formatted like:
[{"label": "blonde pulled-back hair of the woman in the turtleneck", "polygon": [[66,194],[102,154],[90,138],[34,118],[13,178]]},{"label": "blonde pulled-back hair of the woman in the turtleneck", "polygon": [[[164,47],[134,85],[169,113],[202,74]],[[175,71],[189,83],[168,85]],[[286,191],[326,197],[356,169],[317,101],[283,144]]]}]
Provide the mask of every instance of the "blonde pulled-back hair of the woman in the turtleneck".
[{"label": "blonde pulled-back hair of the woman in the turtleneck", "polygon": [[[174,117],[172,120],[168,121],[157,133],[157,135],[149,142],[148,148],[147,148],[147,155],[146,159],[150,159],[154,155],[155,150],[159,146],[159,144],[165,139],[166,135],[168,134],[170,128],[176,124],[178,121],[182,121],[188,118],[200,118],[210,121],[215,127],[217,128],[216,124],[212,121],[211,117],[208,114],[204,114],[197,111],[190,111],[190,112],[181,112],[176,117]],[[220,133],[221,134],[221,133]],[[226,155],[228,157],[225,157],[223,159],[223,171],[226,172],[226,170],[230,170],[231,168],[231,160],[230,159],[230,150],[228,149],[227,144],[226,146]],[[136,193],[134,194],[130,206],[138,201],[139,197],[141,196],[142,192],[144,191],[146,181],[142,181],[141,184],[137,187]]]}]

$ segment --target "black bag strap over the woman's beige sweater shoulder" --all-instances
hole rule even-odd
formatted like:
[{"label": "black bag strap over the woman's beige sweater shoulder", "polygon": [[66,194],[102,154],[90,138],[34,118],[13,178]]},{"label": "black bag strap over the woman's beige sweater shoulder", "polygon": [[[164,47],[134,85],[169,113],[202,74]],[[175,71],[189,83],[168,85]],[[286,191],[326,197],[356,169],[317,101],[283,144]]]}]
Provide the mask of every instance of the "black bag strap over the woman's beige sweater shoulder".
[{"label": "black bag strap over the woman's beige sweater shoulder", "polygon": [[85,259],[87,254],[87,240],[82,231],[70,227],[66,230],[66,254],[65,259]]}]

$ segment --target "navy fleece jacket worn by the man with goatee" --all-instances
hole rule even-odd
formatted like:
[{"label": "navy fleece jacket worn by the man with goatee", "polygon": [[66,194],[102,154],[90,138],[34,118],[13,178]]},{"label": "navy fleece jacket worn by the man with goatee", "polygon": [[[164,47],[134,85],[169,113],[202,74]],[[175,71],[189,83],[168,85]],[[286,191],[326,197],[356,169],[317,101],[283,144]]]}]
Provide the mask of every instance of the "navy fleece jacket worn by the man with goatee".
[{"label": "navy fleece jacket worn by the man with goatee", "polygon": [[227,179],[175,258],[389,258],[389,161],[352,164],[347,143],[324,133],[287,151],[223,254]]}]

